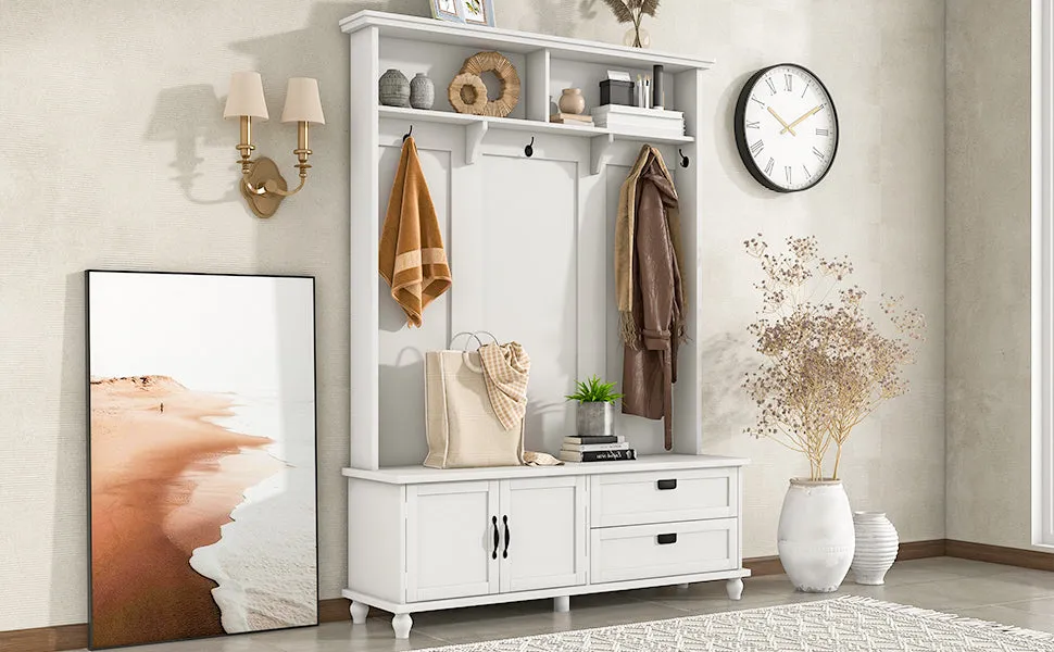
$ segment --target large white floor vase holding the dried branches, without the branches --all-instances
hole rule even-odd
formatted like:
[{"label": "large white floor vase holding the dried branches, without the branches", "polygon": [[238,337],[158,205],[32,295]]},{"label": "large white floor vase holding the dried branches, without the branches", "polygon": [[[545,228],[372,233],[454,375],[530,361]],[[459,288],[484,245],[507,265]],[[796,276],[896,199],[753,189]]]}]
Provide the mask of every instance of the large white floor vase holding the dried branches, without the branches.
[{"label": "large white floor vase holding the dried branches, without the branches", "polygon": [[792,478],[779,514],[777,547],[799,591],[837,591],[853,563],[853,512],[841,480]]}]

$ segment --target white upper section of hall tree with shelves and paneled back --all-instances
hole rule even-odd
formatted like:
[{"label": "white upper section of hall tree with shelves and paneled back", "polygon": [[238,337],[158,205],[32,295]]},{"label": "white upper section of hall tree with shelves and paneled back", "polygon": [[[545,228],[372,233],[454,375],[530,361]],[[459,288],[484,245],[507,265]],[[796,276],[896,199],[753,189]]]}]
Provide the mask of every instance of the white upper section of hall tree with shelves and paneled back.
[{"label": "white upper section of hall tree with shelves and paneled back", "polygon": [[[695,136],[705,71],[713,62],[375,11],[340,26],[351,43],[352,469],[403,473],[397,467],[421,464],[427,451],[423,354],[446,348],[460,331],[497,331],[503,340],[519,340],[531,354],[528,450],[555,452],[562,438],[574,434],[574,405],[563,400],[574,380],[599,374],[620,381],[612,234],[618,188],[644,142],[662,151],[675,175],[692,309],[674,386],[673,453],[703,454]],[[447,100],[447,86],[465,59],[488,50],[516,67],[519,103],[504,118],[459,114]],[[588,113],[600,103],[599,85],[608,70],[636,77],[651,75],[655,64],[664,66],[665,108],[685,114],[683,136],[549,122],[563,88],[581,88]],[[378,79],[388,68],[407,77],[427,74],[436,85],[434,108],[379,105]],[[400,323],[401,312],[377,274],[388,193],[411,126],[454,276],[451,291],[428,308],[419,330]],[[524,146],[531,138],[535,154],[528,159]],[[679,165],[680,152],[691,161],[688,167]],[[495,253],[498,247],[504,250]],[[517,276],[517,268],[529,273]],[[638,452],[665,452],[661,422],[619,415],[617,427]]]}]

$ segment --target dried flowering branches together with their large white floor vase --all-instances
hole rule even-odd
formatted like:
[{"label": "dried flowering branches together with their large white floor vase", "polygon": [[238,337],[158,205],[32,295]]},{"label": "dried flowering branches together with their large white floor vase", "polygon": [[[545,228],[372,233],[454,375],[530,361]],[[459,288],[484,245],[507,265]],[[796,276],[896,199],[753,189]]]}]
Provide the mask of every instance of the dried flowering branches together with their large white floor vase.
[{"label": "dried flowering branches together with their large white floor vase", "polygon": [[814,237],[787,244],[774,254],[760,234],[744,242],[764,272],[755,286],[762,310],[749,331],[765,358],[743,381],[758,410],[746,432],[808,461],[808,477],[792,478],[783,499],[779,559],[799,590],[829,592],[844,579],[856,543],[839,477],[844,446],[870,413],[907,391],[902,371],[915,362],[925,321],[903,309],[902,299],[883,294],[878,308],[896,334],[882,335],[865,292],[843,286],[853,273],[848,258],[820,258]]}]

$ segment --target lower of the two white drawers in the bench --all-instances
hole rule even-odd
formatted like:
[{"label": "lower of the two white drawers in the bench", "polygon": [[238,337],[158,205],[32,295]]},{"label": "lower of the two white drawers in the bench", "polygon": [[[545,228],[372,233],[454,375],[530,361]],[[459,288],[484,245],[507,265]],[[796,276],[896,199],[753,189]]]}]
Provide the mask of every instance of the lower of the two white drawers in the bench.
[{"label": "lower of the two white drawers in the bench", "polygon": [[590,535],[590,584],[739,567],[738,518],[605,527]]}]

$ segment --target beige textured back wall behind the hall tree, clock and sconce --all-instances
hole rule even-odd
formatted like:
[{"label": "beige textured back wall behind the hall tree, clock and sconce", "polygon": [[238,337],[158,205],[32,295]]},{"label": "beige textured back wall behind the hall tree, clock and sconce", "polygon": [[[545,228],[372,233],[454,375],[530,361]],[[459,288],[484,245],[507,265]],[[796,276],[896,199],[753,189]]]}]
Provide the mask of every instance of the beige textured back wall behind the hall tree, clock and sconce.
[{"label": "beige textured back wall behind the hall tree, clock and sconce", "polygon": [[[619,41],[599,0],[495,0],[503,27]],[[425,13],[425,0],[179,3],[0,2],[0,630],[83,622],[86,267],[312,274],[318,298],[322,594],[344,582],[348,456],[348,47],[336,22],[363,8]],[[590,9],[591,8],[591,9]],[[594,12],[595,17],[584,15]],[[754,362],[744,325],[756,269],[741,241],[815,234],[849,253],[877,296],[929,316],[914,391],[861,428],[844,477],[855,506],[890,512],[905,540],[944,536],[944,3],[941,0],[667,0],[656,48],[714,57],[706,96],[707,364],[715,453],[749,455],[745,553],[774,554],[787,478],[803,462],[742,434],[739,390]],[[736,96],[766,64],[793,61],[830,88],[842,137],[810,192],[763,190],[738,160]],[[260,221],[234,192],[236,128],[217,96],[260,70],[271,110],[285,79],[319,78],[329,124],[312,179]],[[261,151],[291,163],[272,121]],[[993,235],[995,237],[995,235]],[[373,280],[371,279],[371,283]]]}]

